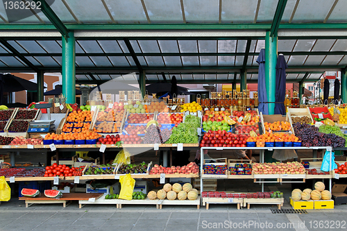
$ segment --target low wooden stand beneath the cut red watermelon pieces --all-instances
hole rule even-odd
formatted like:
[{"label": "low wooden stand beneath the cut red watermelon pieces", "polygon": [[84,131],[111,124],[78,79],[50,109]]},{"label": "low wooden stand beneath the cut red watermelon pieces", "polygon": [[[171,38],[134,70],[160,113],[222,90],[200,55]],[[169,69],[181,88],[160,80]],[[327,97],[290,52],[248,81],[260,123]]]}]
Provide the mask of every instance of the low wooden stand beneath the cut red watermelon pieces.
[{"label": "low wooden stand beneath the cut red watermelon pieces", "polygon": [[[78,201],[88,201],[90,198],[100,198],[103,194],[86,194],[86,193],[75,193],[75,194],[62,194],[62,198],[48,198],[44,195],[39,197],[21,197],[19,200],[25,200],[25,207],[29,207],[33,204],[57,204],[62,203],[62,207],[66,207],[67,201],[78,200]],[[81,208],[81,205],[80,205]]]}]

